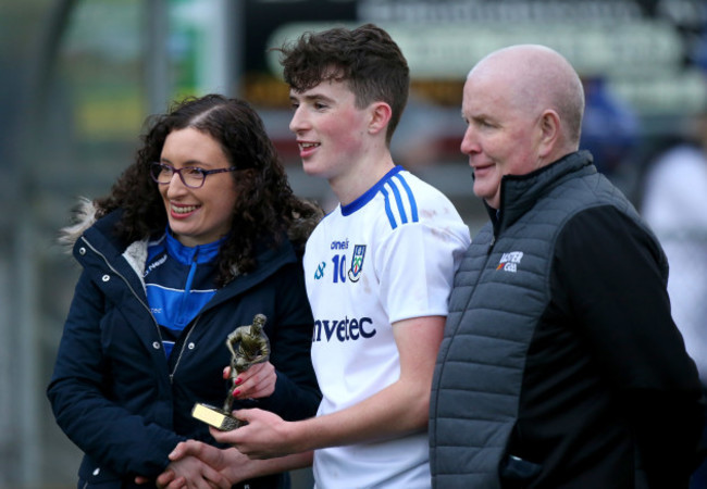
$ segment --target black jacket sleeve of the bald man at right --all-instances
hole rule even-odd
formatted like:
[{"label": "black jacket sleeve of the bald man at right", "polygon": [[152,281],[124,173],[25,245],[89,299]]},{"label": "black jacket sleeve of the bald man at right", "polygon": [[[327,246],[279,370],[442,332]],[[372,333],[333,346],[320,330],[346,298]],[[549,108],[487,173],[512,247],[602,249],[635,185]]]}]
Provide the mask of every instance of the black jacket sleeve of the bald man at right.
[{"label": "black jacket sleeve of the bald man at right", "polygon": [[680,487],[678,474],[696,460],[704,405],[670,314],[659,243],[616,208],[591,209],[562,229],[551,277],[617,393],[650,487]]}]

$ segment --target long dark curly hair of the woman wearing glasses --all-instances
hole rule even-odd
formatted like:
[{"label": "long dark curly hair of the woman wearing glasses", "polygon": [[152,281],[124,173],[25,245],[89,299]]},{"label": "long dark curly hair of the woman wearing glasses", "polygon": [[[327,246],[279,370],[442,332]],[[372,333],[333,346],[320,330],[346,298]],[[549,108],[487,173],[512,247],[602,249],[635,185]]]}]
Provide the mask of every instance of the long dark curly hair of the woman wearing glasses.
[{"label": "long dark curly hair of the woman wearing glasses", "polygon": [[295,197],[260,116],[247,102],[220,95],[190,97],[166,114],[149,117],[147,125],[135,163],[120,176],[109,196],[95,201],[97,217],[123,210],[114,229],[119,238],[132,242],[164,233],[166,211],[158,184],[150,177],[150,163],[160,161],[170,133],[191,127],[216,140],[228,162],[244,170],[231,173],[239,196],[231,222],[237,233],[221,247],[218,285],[255,269],[257,243],[277,246],[288,235],[301,253],[322,216],[321,209]]}]

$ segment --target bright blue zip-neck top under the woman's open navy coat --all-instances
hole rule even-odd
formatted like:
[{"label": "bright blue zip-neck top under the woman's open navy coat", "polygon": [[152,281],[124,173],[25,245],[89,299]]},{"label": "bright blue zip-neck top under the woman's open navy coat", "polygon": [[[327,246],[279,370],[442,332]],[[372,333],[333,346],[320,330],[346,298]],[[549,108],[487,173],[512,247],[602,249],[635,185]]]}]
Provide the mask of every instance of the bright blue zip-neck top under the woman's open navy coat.
[{"label": "bright blue zip-neck top under the woman's open navy coat", "polygon": [[147,300],[160,325],[168,356],[184,328],[216,293],[215,261],[224,239],[186,247],[168,229],[148,244],[144,277]]}]

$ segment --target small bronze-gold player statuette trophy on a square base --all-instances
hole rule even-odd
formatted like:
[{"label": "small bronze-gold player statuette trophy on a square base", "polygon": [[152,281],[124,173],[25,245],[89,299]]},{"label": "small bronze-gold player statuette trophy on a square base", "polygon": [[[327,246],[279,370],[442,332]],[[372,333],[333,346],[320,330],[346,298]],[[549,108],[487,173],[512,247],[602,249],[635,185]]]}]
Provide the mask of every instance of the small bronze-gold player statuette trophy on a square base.
[{"label": "small bronze-gold player statuette trophy on a square base", "polygon": [[223,409],[198,402],[191,409],[191,416],[222,431],[236,429],[245,424],[231,415],[233,409],[233,392],[236,390],[236,379],[250,365],[266,362],[270,359],[270,341],[263,330],[268,318],[256,314],[252,324],[238,326],[226,337],[226,348],[231,352],[231,387],[223,403]]}]

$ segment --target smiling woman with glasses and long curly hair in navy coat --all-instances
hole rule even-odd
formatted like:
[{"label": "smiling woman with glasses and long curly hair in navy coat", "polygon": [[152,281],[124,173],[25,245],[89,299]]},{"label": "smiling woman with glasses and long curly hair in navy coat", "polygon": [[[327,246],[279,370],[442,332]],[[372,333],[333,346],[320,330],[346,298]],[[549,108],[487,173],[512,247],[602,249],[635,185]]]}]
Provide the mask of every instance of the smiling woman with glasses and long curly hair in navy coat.
[{"label": "smiling woman with glasses and long curly hair in navy coat", "polygon": [[[195,457],[168,455],[187,439],[215,443],[195,403],[233,396],[234,409],[315,414],[300,260],[320,209],[294,196],[256,112],[211,95],[151,120],[136,161],[77,216],[63,240],[83,273],[48,397],[85,453],[78,487],[154,487],[164,471],[189,487],[231,486]],[[258,314],[270,360],[231,391],[225,340]],[[239,482],[288,487],[284,474]]]}]

